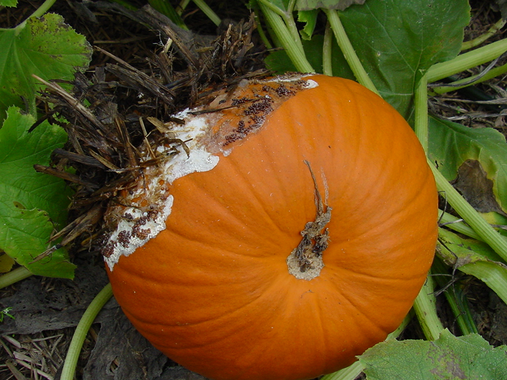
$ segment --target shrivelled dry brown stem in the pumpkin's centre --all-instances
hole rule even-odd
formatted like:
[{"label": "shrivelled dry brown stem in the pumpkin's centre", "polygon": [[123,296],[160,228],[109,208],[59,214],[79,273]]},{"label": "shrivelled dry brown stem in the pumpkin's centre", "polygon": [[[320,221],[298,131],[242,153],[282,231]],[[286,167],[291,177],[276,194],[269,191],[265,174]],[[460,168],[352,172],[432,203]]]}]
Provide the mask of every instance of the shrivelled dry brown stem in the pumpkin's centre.
[{"label": "shrivelled dry brown stem in the pumpkin's centre", "polygon": [[[305,224],[305,228],[301,231],[303,239],[298,246],[287,257],[288,271],[298,279],[311,280],[320,274],[320,270],[324,267],[322,261],[322,252],[328,248],[329,230],[325,227],[331,220],[332,208],[324,205],[320,195],[317,179],[308,161],[304,161],[313,179],[315,187],[315,220]],[[324,180],[325,199],[327,202],[328,188],[327,182]]]}]

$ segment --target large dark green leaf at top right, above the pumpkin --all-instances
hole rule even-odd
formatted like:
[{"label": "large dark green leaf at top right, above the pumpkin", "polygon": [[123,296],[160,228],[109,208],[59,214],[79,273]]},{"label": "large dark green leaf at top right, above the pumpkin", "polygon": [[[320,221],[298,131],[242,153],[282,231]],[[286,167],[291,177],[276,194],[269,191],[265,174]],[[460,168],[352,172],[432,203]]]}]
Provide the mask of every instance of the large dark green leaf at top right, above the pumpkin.
[{"label": "large dark green leaf at top right, above the pumpkin", "polygon": [[424,72],[459,53],[469,10],[467,0],[371,0],[340,19],[382,97],[408,119]]}]

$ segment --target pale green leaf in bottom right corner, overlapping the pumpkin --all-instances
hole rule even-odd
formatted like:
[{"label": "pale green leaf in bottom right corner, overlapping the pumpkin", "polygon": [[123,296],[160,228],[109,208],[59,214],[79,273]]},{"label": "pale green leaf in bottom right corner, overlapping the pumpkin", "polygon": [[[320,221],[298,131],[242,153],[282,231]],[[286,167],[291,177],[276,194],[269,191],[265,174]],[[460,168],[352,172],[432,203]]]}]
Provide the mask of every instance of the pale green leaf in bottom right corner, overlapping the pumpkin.
[{"label": "pale green leaf in bottom right corner, overlapping the pumpkin", "polygon": [[367,380],[498,380],[507,378],[507,346],[492,347],[478,334],[442,331],[434,341],[388,340],[359,357]]}]

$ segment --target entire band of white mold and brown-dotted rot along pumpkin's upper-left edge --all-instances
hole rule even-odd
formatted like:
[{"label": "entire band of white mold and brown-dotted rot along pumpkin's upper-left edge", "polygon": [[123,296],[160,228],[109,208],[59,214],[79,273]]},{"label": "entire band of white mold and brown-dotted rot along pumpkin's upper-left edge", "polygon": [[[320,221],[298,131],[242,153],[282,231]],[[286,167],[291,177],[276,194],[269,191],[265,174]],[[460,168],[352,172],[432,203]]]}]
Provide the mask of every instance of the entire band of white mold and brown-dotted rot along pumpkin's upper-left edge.
[{"label": "entire band of white mold and brown-dotted rot along pumpkin's upper-left edge", "polygon": [[[218,93],[210,103],[212,111],[199,115],[195,111],[202,108],[186,109],[174,115],[177,119],[185,120],[185,123],[171,123],[167,128],[166,141],[172,143],[161,144],[156,148],[157,163],[144,168],[139,178],[123,191],[116,202],[111,202],[106,212],[105,224],[112,233],[103,245],[102,255],[109,269],[113,271],[121,256],[132,254],[166,229],[165,221],[173,204],[169,190],[176,179],[194,172],[212,170],[219,162],[219,155],[227,157],[231,154],[233,147],[229,143],[242,140],[248,133],[256,133],[262,127],[266,116],[274,109],[273,104],[282,104],[286,98],[294,96],[296,91],[317,87],[317,82],[305,79],[309,75],[311,74],[287,74],[261,81],[261,84],[271,86],[265,86],[271,90],[271,95],[266,94],[268,90],[263,90],[264,93],[255,95],[257,97],[250,102],[240,101],[226,105],[224,102],[233,101],[235,93],[224,91]],[[241,81],[238,88],[249,84],[247,80]],[[291,84],[289,87],[294,91],[285,90],[286,84]],[[277,97],[277,100],[272,97]],[[238,97],[236,100],[242,99]],[[231,124],[225,132],[221,129],[222,134],[213,135],[210,124],[221,117],[221,113],[213,107],[228,109],[238,104],[246,107],[243,113],[246,121],[239,122],[243,124]],[[180,142],[178,153],[174,150],[177,145],[175,141]],[[153,152],[145,147],[141,161],[153,160],[152,156]]]}]

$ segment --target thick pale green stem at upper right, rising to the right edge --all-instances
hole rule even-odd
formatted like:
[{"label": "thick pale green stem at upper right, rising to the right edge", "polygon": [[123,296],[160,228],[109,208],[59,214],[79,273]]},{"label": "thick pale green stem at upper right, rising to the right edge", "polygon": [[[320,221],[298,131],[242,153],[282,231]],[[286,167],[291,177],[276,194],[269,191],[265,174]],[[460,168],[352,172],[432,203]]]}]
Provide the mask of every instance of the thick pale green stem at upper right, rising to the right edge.
[{"label": "thick pale green stem at upper right, rising to the right edge", "polygon": [[436,63],[427,71],[428,83],[440,81],[470,67],[492,61],[507,51],[507,39],[458,55],[450,61]]}]

